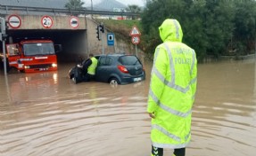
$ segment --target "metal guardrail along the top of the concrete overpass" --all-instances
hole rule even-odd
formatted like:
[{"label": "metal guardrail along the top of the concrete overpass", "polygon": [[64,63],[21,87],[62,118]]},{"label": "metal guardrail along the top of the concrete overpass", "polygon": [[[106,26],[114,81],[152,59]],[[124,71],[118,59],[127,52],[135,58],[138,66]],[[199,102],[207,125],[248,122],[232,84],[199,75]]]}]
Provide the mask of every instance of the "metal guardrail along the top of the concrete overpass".
[{"label": "metal guardrail along the top of the concrete overpass", "polygon": [[57,8],[41,8],[41,7],[25,7],[25,6],[12,6],[12,5],[1,5],[0,4],[0,14],[8,15],[13,12],[19,12],[21,14],[45,14],[51,13],[54,15],[66,14],[66,15],[79,15],[79,14],[94,14],[94,15],[118,15],[118,16],[140,16],[139,13],[135,12],[108,12],[108,11],[95,11],[88,10],[87,8],[78,10],[69,9],[57,9]]}]

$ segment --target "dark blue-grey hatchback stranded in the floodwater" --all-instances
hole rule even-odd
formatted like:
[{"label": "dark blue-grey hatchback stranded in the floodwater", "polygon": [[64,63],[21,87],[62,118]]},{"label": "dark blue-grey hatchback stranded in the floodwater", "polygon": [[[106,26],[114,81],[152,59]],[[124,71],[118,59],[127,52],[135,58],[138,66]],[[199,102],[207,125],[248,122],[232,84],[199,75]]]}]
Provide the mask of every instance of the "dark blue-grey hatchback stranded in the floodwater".
[{"label": "dark blue-grey hatchback stranded in the floodwater", "polygon": [[[95,58],[98,59],[96,82],[128,84],[145,80],[144,66],[135,55],[105,54],[97,55]],[[74,77],[73,71],[70,70],[70,79]]]}]

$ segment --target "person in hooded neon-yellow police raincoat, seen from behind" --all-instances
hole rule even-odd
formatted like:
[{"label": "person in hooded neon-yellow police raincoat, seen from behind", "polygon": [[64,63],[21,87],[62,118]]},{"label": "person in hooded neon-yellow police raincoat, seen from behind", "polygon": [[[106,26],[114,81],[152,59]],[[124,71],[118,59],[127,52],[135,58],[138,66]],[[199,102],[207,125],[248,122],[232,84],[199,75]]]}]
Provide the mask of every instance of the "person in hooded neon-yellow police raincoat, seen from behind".
[{"label": "person in hooded neon-yellow police raincoat, seen from behind", "polygon": [[152,156],[163,148],[185,156],[191,139],[191,113],[197,82],[197,60],[193,49],[182,43],[178,20],[164,20],[159,27],[151,76],[147,112],[152,118]]}]

